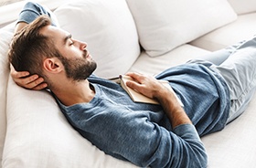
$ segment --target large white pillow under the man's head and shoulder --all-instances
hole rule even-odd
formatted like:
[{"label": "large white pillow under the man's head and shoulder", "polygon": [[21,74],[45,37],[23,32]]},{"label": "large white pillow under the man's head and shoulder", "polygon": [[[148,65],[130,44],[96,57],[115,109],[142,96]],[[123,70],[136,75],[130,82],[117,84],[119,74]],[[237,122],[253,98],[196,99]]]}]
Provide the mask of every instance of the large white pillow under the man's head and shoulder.
[{"label": "large white pillow under the man's head and shoulder", "polygon": [[22,89],[9,78],[7,96],[3,167],[135,167],[82,138],[48,91]]}]

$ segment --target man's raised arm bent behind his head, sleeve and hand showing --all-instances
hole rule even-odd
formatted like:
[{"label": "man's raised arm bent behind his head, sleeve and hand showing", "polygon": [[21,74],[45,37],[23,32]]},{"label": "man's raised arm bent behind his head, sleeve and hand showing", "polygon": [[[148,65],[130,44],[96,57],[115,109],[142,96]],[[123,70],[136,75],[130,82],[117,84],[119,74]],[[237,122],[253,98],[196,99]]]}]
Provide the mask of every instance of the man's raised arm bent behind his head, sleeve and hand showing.
[{"label": "man's raised arm bent behind his head, sleeve and hand showing", "polygon": [[[48,15],[52,18],[52,13],[48,11],[47,8],[44,8],[36,3],[27,3],[20,12],[15,28],[15,34],[27,26],[27,24],[33,22],[37,16],[41,15]],[[57,25],[56,20],[53,21],[52,25]],[[13,66],[11,66],[11,76],[17,85],[26,89],[45,89],[48,86],[47,83],[44,83],[44,79],[38,77],[37,75],[30,76],[29,72],[27,71],[17,72]]]}]

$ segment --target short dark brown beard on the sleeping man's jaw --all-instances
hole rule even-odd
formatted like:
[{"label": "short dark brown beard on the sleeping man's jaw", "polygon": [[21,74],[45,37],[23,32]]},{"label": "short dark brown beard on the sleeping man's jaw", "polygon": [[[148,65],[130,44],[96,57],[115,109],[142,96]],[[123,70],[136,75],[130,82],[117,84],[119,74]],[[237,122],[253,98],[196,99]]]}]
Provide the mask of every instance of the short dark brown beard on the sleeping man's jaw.
[{"label": "short dark brown beard on the sleeping man's jaw", "polygon": [[83,58],[61,57],[60,59],[66,70],[67,78],[74,81],[87,79],[97,68],[97,64],[94,60],[86,59],[86,53],[83,54]]}]

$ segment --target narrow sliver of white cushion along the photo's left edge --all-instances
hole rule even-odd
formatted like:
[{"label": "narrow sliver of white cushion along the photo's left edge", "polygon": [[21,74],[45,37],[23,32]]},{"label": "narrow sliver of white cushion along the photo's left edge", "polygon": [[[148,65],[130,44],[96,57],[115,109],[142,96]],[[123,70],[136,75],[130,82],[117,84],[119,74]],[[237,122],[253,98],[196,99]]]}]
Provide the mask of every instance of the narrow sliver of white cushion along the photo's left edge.
[{"label": "narrow sliver of white cushion along the photo's left edge", "polygon": [[2,161],[6,131],[6,87],[9,76],[7,52],[12,37],[12,33],[0,29],[0,163]]}]

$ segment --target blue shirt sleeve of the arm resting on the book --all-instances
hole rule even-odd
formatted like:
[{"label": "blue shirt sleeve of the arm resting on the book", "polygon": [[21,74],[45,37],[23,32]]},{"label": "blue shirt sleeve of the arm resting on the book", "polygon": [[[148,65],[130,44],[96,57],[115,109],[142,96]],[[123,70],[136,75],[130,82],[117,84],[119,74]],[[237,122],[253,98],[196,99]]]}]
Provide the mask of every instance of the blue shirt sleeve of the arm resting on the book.
[{"label": "blue shirt sleeve of the arm resting on the book", "polygon": [[207,167],[204,145],[191,124],[167,131],[144,112],[120,110],[106,115],[98,112],[76,124],[78,131],[102,151],[141,167]]}]

